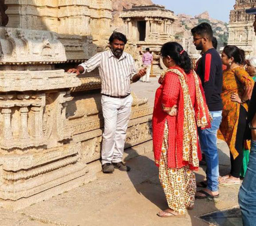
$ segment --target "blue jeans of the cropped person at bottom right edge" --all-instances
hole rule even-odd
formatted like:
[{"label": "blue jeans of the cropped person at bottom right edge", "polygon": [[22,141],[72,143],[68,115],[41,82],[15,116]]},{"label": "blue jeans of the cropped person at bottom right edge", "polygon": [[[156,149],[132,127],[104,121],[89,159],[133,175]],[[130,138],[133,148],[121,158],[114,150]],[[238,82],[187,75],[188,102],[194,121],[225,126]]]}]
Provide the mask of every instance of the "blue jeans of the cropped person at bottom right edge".
[{"label": "blue jeans of the cropped person at bottom right edge", "polygon": [[256,141],[252,140],[249,163],[238,193],[243,226],[256,226]]}]

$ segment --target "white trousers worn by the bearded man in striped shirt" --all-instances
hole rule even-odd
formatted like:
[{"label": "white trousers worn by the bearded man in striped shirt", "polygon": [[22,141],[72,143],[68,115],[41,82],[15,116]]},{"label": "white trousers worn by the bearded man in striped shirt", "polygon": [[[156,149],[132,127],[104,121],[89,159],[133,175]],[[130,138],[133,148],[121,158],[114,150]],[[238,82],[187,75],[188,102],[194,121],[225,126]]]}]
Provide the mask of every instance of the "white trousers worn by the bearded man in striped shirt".
[{"label": "white trousers worn by the bearded man in striped shirt", "polygon": [[126,130],[131,115],[132,96],[114,98],[101,96],[104,117],[102,135],[102,165],[123,160]]}]

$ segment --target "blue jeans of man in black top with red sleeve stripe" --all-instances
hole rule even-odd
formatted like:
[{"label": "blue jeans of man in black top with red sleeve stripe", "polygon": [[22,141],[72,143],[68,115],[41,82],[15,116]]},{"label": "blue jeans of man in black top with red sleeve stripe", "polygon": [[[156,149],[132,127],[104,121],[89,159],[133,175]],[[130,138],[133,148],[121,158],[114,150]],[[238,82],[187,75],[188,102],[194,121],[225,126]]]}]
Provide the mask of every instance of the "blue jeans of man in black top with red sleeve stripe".
[{"label": "blue jeans of man in black top with red sleeve stripe", "polygon": [[199,128],[198,135],[201,150],[206,160],[207,189],[218,191],[219,189],[219,154],[217,148],[217,132],[222,119],[222,111],[210,111],[213,121],[211,128]]}]

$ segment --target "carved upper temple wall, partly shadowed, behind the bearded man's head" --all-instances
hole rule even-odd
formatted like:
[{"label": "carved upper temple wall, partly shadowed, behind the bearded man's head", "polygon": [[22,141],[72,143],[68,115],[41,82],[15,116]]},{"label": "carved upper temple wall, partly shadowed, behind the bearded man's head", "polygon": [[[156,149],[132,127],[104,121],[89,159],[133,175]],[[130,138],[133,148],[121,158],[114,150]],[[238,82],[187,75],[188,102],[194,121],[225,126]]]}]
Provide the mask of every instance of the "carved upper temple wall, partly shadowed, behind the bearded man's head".
[{"label": "carved upper temple wall, partly shadowed, behind the bearded man's head", "polygon": [[92,35],[97,45],[110,35],[111,0],[5,0],[5,5],[8,27]]}]

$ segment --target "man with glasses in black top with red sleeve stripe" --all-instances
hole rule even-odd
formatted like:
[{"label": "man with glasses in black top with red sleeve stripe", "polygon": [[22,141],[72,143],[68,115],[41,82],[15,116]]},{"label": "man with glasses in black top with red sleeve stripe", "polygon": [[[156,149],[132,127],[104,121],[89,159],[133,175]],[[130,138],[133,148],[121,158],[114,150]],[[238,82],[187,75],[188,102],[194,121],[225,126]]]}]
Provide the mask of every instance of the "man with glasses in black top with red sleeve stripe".
[{"label": "man with glasses in black top with red sleeve stripe", "polygon": [[[201,23],[192,30],[194,44],[197,50],[203,52],[196,72],[201,78],[208,109],[213,117],[211,128],[199,129],[201,150],[206,160],[206,188],[198,191],[196,198],[219,197],[219,155],[217,148],[217,131],[221,122],[222,101],[222,62],[219,53],[213,47],[213,31],[208,23]],[[203,186],[201,186],[203,187]]]}]

